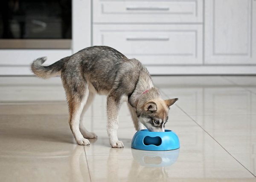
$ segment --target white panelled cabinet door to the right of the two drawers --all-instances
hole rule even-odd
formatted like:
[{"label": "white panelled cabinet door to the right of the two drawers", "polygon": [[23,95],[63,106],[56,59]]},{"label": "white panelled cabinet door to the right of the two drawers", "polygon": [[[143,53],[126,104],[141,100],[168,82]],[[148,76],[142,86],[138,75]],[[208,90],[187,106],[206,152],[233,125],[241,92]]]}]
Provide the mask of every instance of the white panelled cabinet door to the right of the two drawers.
[{"label": "white panelled cabinet door to the right of the two drawers", "polygon": [[256,2],[205,1],[205,64],[256,64]]}]

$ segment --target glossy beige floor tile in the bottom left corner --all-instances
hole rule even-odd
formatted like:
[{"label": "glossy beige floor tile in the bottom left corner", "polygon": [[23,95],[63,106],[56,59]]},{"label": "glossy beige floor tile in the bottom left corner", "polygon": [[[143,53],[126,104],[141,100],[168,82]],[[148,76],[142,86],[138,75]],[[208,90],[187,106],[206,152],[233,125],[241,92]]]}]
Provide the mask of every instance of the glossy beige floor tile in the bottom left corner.
[{"label": "glossy beige floor tile in the bottom left corner", "polygon": [[14,156],[0,156],[2,182],[87,182],[90,181],[87,166],[81,146],[74,148],[72,155],[64,156],[20,156],[17,153]]}]

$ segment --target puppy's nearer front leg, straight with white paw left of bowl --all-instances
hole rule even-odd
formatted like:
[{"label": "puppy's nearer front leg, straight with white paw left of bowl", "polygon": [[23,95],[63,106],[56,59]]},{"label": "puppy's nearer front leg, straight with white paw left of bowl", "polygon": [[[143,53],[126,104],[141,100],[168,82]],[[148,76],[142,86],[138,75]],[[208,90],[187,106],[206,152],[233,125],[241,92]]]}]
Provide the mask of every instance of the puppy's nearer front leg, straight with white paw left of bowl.
[{"label": "puppy's nearer front leg, straight with white paw left of bowl", "polygon": [[117,128],[118,128],[118,113],[120,109],[120,99],[109,95],[107,99],[107,111],[108,111],[108,137],[110,145],[113,148],[123,148],[124,144],[117,138]]}]

